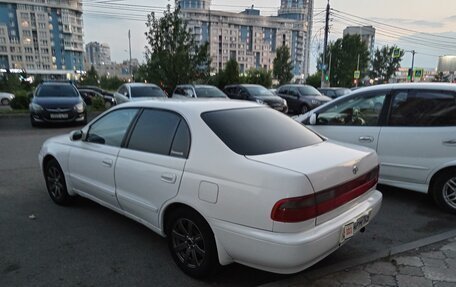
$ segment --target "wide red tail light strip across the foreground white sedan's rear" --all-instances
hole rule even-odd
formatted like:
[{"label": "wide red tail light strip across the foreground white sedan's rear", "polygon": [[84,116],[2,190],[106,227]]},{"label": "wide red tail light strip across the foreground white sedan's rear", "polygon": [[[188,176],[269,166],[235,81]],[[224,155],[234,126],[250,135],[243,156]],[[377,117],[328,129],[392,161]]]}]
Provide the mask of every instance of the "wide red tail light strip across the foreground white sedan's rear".
[{"label": "wide red tail light strip across the foreground white sedan's rear", "polygon": [[301,197],[279,200],[271,211],[271,218],[279,222],[300,222],[344,205],[377,184],[379,167],[349,182]]}]

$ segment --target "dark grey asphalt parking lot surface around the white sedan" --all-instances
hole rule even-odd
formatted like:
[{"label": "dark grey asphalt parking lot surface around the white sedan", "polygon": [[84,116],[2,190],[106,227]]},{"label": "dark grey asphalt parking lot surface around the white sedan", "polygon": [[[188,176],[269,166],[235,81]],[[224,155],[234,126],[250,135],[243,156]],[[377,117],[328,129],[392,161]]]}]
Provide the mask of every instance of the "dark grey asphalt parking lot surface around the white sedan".
[{"label": "dark grey asphalt parking lot surface around the white sedan", "polygon": [[[37,155],[44,140],[77,128],[32,128],[27,116],[0,117],[0,286],[253,286],[293,276],[232,264],[210,282],[196,281],[146,227],[85,199],[53,204]],[[454,229],[454,215],[427,195],[379,190],[383,207],[366,232],[312,270]]]}]

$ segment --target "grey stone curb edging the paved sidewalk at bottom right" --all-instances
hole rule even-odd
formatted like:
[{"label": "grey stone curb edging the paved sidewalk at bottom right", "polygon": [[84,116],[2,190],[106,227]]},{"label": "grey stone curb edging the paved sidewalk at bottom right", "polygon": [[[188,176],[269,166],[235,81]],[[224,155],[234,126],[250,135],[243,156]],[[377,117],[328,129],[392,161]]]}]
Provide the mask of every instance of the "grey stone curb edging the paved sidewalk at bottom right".
[{"label": "grey stone curb edging the paved sidewalk at bottom right", "polygon": [[353,268],[358,265],[363,265],[366,263],[370,263],[379,259],[383,258],[388,258],[393,255],[397,255],[406,251],[410,251],[413,249],[418,249],[424,246],[428,246],[440,241],[444,241],[450,238],[456,237],[456,230],[451,230],[448,232],[444,232],[438,235],[433,235],[429,236],[423,239],[419,239],[416,241],[412,241],[409,243],[401,244],[398,246],[393,246],[387,250],[384,251],[379,251],[376,253],[373,253],[368,256],[360,257],[357,259],[352,259],[352,260],[346,260],[342,261],[327,267],[319,268],[316,270],[312,271],[303,271],[302,274],[298,274],[292,278],[284,279],[284,280],[279,280],[275,282],[270,282],[266,283],[264,285],[260,285],[262,287],[282,287],[282,286],[287,286],[287,285],[296,285],[299,284],[299,282],[308,282],[309,280],[315,280],[317,278],[336,273],[345,269]]}]

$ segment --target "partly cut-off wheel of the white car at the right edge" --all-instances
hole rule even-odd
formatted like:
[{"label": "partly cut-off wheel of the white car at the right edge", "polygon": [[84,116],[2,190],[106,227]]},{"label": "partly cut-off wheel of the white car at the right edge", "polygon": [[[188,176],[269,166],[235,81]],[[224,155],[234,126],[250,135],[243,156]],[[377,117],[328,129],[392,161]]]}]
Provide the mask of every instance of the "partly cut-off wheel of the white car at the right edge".
[{"label": "partly cut-off wheel of the white car at the right edge", "polygon": [[450,213],[456,213],[456,169],[439,174],[431,188],[435,203]]}]

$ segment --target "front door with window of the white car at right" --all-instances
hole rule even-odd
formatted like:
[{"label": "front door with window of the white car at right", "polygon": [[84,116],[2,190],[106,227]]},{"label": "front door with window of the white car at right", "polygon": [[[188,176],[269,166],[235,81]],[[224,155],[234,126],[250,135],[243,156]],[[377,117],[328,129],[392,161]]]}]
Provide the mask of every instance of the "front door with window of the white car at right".
[{"label": "front door with window of the white car at right", "polygon": [[388,90],[357,93],[316,113],[307,127],[329,139],[377,149],[381,115]]}]

